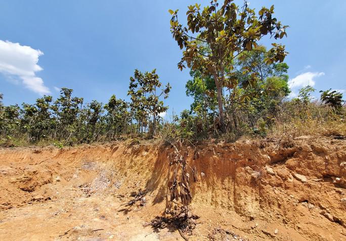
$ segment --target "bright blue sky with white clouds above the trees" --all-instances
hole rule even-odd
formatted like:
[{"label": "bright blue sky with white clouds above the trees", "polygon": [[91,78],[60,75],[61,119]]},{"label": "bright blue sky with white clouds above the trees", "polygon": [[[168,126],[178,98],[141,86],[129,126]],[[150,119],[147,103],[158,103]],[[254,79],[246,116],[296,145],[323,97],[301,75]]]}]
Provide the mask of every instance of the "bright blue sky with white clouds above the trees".
[{"label": "bright blue sky with white clouds above the trees", "polygon": [[[4,103],[33,103],[45,93],[56,98],[56,87],[71,88],[85,101],[105,103],[112,94],[127,99],[134,69],[156,68],[161,81],[172,86],[166,100],[169,112],[189,108],[191,99],[185,94],[189,71],[177,68],[182,53],[171,37],[167,10],[179,9],[185,22],[187,6],[196,2],[0,1]],[[290,53],[285,62],[293,93],[307,83],[317,90],[346,89],[346,1],[248,2],[257,11],[274,4],[276,17],[290,26],[281,43]]]}]

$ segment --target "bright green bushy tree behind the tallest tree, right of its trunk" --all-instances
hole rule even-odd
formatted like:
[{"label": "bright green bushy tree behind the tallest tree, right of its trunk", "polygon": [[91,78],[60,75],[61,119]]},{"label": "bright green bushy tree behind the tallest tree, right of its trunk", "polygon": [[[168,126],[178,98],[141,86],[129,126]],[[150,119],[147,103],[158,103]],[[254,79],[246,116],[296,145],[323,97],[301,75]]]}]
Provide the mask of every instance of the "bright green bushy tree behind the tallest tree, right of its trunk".
[{"label": "bright green bushy tree behind the tallest tree, right of its trunk", "polygon": [[[258,46],[252,51],[244,51],[236,61],[239,83],[237,88],[242,89],[240,98],[249,98],[243,104],[238,102],[238,105],[235,105],[230,112],[243,106],[249,115],[249,122],[252,126],[258,118],[271,119],[278,111],[280,103],[290,93],[287,83],[288,65],[286,63],[266,63],[266,58],[268,58],[266,48]],[[244,69],[247,71],[244,72]],[[255,83],[251,83],[252,73],[258,73]],[[231,103],[234,102],[236,102],[234,99],[231,100]],[[237,116],[234,118],[237,119]]]}]

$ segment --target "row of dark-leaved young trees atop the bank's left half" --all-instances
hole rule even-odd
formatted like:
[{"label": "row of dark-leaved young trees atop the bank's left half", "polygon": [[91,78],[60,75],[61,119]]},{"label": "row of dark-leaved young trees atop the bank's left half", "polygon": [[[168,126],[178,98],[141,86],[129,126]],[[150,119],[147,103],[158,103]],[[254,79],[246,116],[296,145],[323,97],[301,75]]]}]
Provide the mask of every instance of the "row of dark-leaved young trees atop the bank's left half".
[{"label": "row of dark-leaved young trees atop the bank's left half", "polygon": [[[124,137],[153,137],[162,122],[160,113],[167,110],[163,99],[170,85],[160,90],[155,70],[135,70],[130,78],[131,102],[112,95],[105,105],[73,96],[73,90],[62,88],[60,96],[38,98],[36,103],[3,106],[0,102],[0,137],[2,143],[25,139],[26,143],[53,142],[58,146],[116,140]],[[2,100],[3,95],[0,95]]]}]

